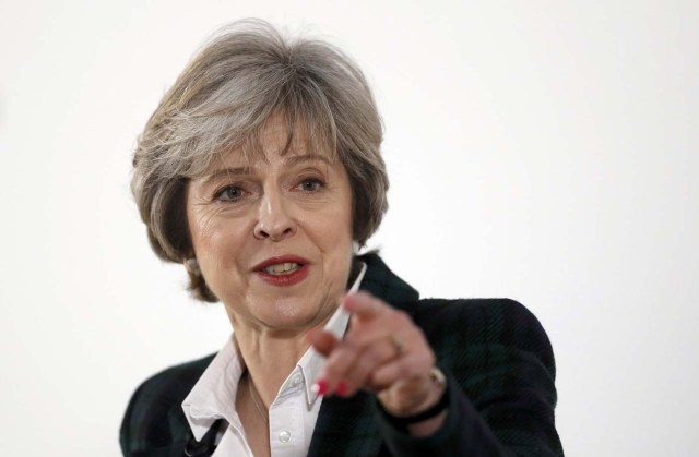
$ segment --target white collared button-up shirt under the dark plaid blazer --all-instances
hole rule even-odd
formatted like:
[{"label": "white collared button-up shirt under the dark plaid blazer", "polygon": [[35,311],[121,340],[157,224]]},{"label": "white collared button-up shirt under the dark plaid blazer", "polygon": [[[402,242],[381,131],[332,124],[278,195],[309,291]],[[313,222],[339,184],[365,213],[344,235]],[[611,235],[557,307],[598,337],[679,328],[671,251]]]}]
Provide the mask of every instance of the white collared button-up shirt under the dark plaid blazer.
[{"label": "white collared button-up shirt under the dark plaid blazer", "polygon": [[[365,272],[366,265],[363,265],[351,292],[359,288]],[[341,337],[348,322],[350,314],[339,306],[324,328]],[[269,411],[272,457],[308,454],[322,402],[322,397],[312,392],[312,386],[323,363],[323,357],[312,347],[309,348],[280,387]],[[228,423],[212,457],[252,456],[235,409],[242,373],[244,365],[232,336],[182,401],[185,416],[197,441],[201,441],[217,419],[223,418]]]}]

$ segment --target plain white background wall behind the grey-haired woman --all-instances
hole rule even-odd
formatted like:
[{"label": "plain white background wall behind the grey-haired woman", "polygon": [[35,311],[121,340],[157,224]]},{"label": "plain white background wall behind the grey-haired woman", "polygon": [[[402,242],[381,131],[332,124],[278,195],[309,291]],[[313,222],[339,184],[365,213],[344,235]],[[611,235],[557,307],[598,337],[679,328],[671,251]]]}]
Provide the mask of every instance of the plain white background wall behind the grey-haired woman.
[{"label": "plain white background wall behind the grey-haired woman", "polygon": [[135,386],[226,338],[128,182],[159,97],[246,16],[366,71],[392,180],[370,246],[424,296],[538,316],[568,455],[697,453],[696,1],[1,0],[0,454],[118,456]]}]

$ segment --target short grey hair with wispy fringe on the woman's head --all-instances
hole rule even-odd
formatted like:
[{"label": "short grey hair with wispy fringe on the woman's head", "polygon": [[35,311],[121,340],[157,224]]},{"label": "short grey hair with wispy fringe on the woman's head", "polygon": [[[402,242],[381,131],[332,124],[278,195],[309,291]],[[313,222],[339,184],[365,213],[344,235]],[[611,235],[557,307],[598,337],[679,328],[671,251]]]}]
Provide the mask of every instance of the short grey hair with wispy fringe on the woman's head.
[{"label": "short grey hair with wispy fringe on the woman's head", "polygon": [[[186,189],[226,152],[261,153],[260,135],[283,116],[287,146],[303,137],[309,154],[331,154],[350,176],[353,238],[360,245],[388,209],[389,187],[380,154],[381,119],[356,63],[318,39],[285,38],[260,20],[222,28],[194,56],[165,94],[140,135],[131,190],[149,241],[163,260],[193,255]],[[201,275],[190,290],[217,301]]]}]

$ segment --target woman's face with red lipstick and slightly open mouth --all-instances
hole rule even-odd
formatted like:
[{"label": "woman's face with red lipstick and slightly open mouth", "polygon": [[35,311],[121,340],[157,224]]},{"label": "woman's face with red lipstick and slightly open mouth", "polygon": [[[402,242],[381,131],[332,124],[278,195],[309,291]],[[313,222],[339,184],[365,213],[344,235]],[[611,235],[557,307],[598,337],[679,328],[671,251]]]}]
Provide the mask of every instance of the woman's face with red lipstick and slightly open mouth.
[{"label": "woman's face with red lipstick and slightly open mouth", "polygon": [[187,190],[187,219],[206,284],[233,325],[305,329],[340,304],[352,264],[352,190],[342,164],[286,144],[272,119],[265,157],[233,151]]}]

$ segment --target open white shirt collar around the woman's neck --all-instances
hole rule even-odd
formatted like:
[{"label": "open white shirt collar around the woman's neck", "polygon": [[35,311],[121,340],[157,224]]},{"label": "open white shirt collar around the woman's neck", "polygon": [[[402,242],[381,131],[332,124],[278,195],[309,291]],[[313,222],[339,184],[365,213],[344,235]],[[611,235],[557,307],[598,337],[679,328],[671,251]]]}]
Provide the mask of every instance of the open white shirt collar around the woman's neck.
[{"label": "open white shirt collar around the woman's neck", "polygon": [[[359,274],[350,288],[350,293],[359,289],[366,269],[367,265],[363,263]],[[325,324],[324,329],[341,338],[347,329],[348,322],[350,313],[340,305]],[[201,441],[216,419],[224,418],[228,423],[239,422],[235,412],[235,398],[244,368],[233,341],[232,334],[182,401],[185,417],[197,441]],[[312,347],[308,348],[297,363],[297,368],[300,369],[304,376],[306,399],[309,406],[318,398],[312,386],[323,364],[324,358]],[[281,389],[284,389],[286,384],[284,383]]]}]

